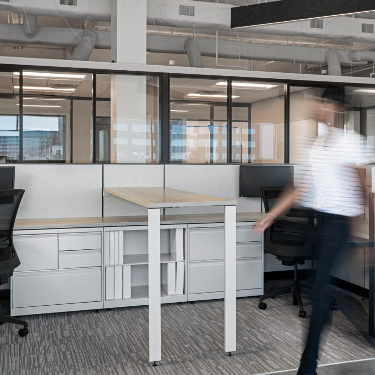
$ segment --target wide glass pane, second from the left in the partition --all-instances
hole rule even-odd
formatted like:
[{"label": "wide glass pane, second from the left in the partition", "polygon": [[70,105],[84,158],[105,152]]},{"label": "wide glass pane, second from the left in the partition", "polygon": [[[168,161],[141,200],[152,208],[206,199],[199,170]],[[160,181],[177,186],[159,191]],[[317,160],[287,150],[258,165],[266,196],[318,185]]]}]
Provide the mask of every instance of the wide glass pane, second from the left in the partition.
[{"label": "wide glass pane, second from the left in the partition", "polygon": [[23,161],[92,163],[93,75],[23,71]]}]

